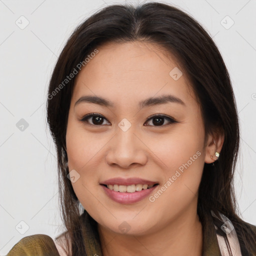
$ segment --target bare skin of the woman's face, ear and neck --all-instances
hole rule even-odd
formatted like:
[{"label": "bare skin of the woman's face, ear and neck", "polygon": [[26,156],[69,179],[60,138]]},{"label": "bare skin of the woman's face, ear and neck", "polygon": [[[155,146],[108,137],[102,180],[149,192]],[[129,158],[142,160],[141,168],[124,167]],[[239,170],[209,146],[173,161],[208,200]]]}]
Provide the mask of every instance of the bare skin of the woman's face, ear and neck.
[{"label": "bare skin of the woman's face, ear and neck", "polygon": [[[199,105],[185,72],[178,80],[169,75],[174,67],[182,70],[169,52],[145,42],[110,42],[98,50],[75,80],[66,150],[69,171],[75,169],[80,175],[72,183],[73,189],[98,223],[103,255],[201,255],[197,191],[204,162],[216,159],[214,153],[220,152],[223,135],[209,135],[204,144]],[[138,106],[140,100],[165,94],[180,98],[184,105]],[[104,97],[114,107],[90,102],[74,106],[83,95]],[[88,113],[104,119],[100,125],[93,124],[92,118],[81,121]],[[164,118],[157,125],[148,119],[159,113],[177,123]],[[118,126],[123,118],[131,123],[125,132]],[[196,160],[153,202],[147,196],[121,204],[111,200],[100,185],[108,178],[139,177],[156,180],[157,191],[197,151]],[[119,228],[123,221],[130,227],[125,233]]]}]

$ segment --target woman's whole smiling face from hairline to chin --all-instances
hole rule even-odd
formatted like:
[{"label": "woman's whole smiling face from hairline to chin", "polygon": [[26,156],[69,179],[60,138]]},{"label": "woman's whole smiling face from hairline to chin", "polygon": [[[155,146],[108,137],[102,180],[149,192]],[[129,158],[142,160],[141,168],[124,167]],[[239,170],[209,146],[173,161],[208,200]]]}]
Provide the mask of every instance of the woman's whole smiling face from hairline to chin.
[{"label": "woman's whole smiling face from hairline to chin", "polygon": [[156,45],[97,49],[76,77],[70,103],[72,186],[102,228],[155,232],[196,212],[206,157],[199,105],[178,63]]}]

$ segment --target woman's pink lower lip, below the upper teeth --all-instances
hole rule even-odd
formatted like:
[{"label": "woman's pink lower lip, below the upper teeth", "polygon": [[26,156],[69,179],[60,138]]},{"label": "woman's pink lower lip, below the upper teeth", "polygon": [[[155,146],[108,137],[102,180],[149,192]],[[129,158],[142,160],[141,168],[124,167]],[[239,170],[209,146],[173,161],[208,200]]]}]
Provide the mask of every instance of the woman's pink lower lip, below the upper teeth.
[{"label": "woman's pink lower lip, below the upper teeth", "polygon": [[105,187],[104,185],[101,185],[104,189],[105,193],[110,197],[113,201],[119,202],[119,203],[134,203],[142,200],[146,196],[148,196],[158,185],[152,186],[147,189],[142,189],[141,191],[135,191],[132,193],[128,192],[117,192],[114,190],[110,190],[109,188]]}]

